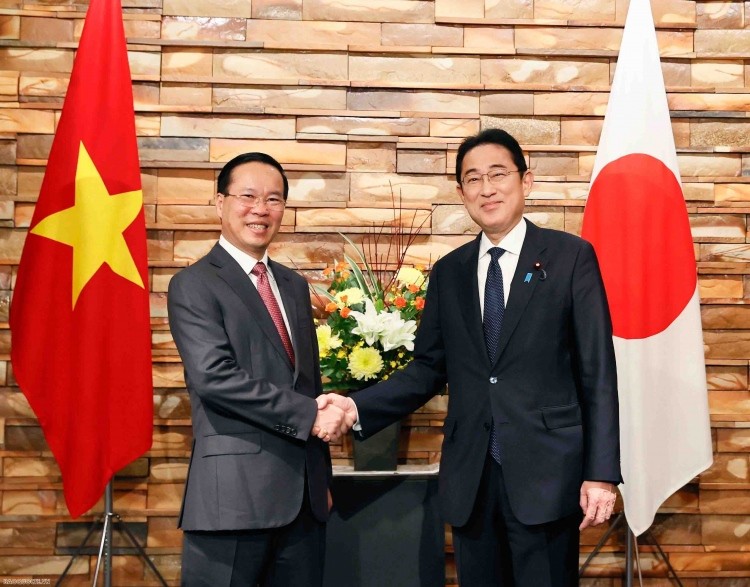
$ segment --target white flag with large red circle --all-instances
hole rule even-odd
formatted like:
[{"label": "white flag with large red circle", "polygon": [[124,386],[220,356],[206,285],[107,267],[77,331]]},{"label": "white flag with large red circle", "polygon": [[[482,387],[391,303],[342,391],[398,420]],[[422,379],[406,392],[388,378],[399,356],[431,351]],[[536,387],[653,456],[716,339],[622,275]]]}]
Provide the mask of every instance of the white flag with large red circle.
[{"label": "white flag with large red circle", "polygon": [[713,461],[693,240],[648,0],[631,0],[583,217],[607,290],[638,536]]}]

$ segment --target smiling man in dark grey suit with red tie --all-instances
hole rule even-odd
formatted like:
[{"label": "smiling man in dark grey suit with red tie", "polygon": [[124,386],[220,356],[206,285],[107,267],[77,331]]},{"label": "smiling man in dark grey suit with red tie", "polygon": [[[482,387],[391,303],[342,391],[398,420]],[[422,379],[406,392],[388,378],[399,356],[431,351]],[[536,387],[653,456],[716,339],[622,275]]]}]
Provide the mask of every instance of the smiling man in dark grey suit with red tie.
[{"label": "smiling man in dark grey suit with red tie", "polygon": [[182,585],[322,583],[326,442],[347,424],[335,406],[318,409],[307,283],[266,252],[288,191],[272,157],[232,159],[218,179],[219,242],[169,285],[194,436],[179,520]]}]

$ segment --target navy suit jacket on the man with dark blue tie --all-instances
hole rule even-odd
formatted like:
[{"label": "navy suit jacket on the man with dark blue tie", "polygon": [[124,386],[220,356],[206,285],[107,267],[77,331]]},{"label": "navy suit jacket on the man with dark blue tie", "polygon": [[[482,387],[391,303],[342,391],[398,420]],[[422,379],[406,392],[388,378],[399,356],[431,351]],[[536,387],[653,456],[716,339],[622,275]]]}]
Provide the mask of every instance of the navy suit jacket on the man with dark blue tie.
[{"label": "navy suit jacket on the man with dark blue tie", "polygon": [[584,480],[621,480],[612,326],[594,249],[526,222],[495,362],[482,330],[477,237],[435,263],[412,362],[352,396],[367,436],[448,384],[439,495],[454,526],[474,506],[493,419],[524,524],[580,512]]}]

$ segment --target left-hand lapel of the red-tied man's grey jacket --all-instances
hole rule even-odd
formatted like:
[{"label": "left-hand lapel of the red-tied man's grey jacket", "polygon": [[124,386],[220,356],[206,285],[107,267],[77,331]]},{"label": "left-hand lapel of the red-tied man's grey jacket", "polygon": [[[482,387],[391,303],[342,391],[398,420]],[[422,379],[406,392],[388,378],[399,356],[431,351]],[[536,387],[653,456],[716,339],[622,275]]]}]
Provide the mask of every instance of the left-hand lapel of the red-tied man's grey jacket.
[{"label": "left-hand lapel of the red-tied man's grey jacket", "polygon": [[[258,326],[260,326],[260,329],[291,369],[292,362],[289,360],[289,355],[286,354],[286,349],[284,349],[284,345],[281,342],[281,337],[279,336],[278,330],[276,330],[276,325],[273,323],[271,314],[268,313],[268,309],[266,308],[265,303],[263,303],[263,299],[260,297],[258,290],[253,285],[252,281],[250,281],[250,277],[242,271],[242,267],[232,259],[232,256],[227,253],[221,245],[215,245],[209,255],[211,263],[218,268],[217,274],[219,277],[223,279],[239,296],[242,303],[245,304],[250,311],[253,319],[257,322]],[[286,300],[284,300],[284,309],[287,309]],[[287,314],[287,317],[291,322],[291,316]]]}]

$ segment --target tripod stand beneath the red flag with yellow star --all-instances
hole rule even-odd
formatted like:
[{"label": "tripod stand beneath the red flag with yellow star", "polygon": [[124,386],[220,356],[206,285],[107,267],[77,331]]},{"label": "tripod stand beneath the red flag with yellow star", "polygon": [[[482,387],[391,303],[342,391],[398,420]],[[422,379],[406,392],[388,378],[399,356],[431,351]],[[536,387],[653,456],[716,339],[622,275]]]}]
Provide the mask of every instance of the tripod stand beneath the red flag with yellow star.
[{"label": "tripod stand beneath the red flag with yellow star", "polygon": [[73,562],[75,562],[76,558],[78,558],[81,555],[81,553],[83,552],[83,549],[86,548],[86,544],[88,543],[89,538],[91,538],[91,535],[99,527],[102,521],[104,522],[104,527],[102,528],[102,539],[101,539],[101,542],[99,543],[99,556],[96,559],[96,570],[94,571],[94,580],[91,582],[92,587],[96,586],[96,583],[99,580],[99,569],[102,567],[104,569],[104,573],[102,575],[104,587],[112,587],[112,528],[113,527],[116,528],[121,534],[124,534],[128,538],[128,540],[130,540],[131,544],[138,551],[138,556],[141,557],[146,562],[148,567],[153,571],[154,575],[156,575],[156,578],[159,579],[159,582],[164,587],[167,587],[167,582],[164,580],[164,577],[162,577],[161,573],[159,572],[159,569],[156,568],[156,565],[154,565],[154,562],[148,557],[148,555],[146,554],[146,551],[143,550],[143,547],[138,543],[138,540],[130,531],[130,528],[128,528],[127,524],[122,520],[122,518],[120,518],[120,515],[113,511],[113,502],[114,500],[113,500],[112,479],[110,479],[109,483],[107,483],[106,489],[104,490],[103,520],[97,520],[91,525],[91,528],[89,528],[89,531],[86,534],[86,537],[83,539],[83,542],[81,542],[80,546],[76,548],[75,552],[73,553],[73,556],[70,557],[68,566],[65,567],[65,570],[62,572],[62,575],[60,575],[60,578],[57,580],[57,583],[55,583],[56,587],[62,584],[63,580],[68,574],[68,571],[73,566]]}]

